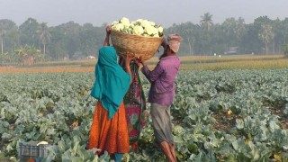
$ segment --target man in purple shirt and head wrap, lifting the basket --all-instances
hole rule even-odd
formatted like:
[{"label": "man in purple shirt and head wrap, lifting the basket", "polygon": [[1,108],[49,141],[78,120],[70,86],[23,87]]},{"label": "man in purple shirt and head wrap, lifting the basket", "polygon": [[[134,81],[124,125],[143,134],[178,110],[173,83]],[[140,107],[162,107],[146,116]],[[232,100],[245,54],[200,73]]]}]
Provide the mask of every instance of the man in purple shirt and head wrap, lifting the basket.
[{"label": "man in purple shirt and head wrap, lifting the basket", "polygon": [[175,77],[180,67],[180,59],[176,56],[182,37],[170,34],[164,39],[162,46],[164,53],[153,70],[149,70],[141,59],[141,71],[151,84],[148,94],[148,103],[151,103],[152,125],[155,141],[162,148],[169,161],[176,161],[175,145],[172,135],[170,106],[175,97]]}]

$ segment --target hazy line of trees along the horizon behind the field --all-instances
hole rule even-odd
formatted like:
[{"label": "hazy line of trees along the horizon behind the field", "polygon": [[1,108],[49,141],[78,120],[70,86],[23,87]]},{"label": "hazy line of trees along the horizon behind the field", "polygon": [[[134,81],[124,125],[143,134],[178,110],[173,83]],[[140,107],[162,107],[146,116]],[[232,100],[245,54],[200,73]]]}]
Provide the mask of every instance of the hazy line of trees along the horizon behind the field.
[{"label": "hazy line of trees along the horizon behind the field", "polygon": [[[12,20],[0,20],[0,64],[33,64],[47,60],[81,59],[97,55],[103,44],[104,29],[92,23],[74,22],[48,26],[28,18],[20,26]],[[184,40],[181,56],[217,54],[279,54],[287,53],[288,18],[271,20],[260,16],[253,23],[227,18],[213,23],[212,14],[205,13],[199,23],[173,24],[164,30],[178,33]]]}]

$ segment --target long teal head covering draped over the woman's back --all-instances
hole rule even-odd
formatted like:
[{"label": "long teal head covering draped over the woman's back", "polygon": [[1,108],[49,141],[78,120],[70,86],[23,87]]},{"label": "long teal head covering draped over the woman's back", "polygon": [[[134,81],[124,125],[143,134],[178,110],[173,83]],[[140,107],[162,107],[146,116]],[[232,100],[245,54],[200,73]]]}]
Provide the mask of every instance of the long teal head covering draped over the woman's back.
[{"label": "long teal head covering draped over the woman's back", "polygon": [[130,87],[131,76],[117,63],[116,50],[105,46],[99,49],[95,66],[95,82],[91,95],[100,100],[112,119]]}]

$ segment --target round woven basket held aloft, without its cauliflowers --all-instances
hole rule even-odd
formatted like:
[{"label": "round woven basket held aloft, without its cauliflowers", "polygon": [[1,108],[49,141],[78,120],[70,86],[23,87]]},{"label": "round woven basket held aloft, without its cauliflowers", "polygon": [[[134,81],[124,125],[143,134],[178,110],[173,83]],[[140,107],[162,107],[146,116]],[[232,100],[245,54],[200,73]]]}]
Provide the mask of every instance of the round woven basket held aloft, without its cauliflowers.
[{"label": "round woven basket held aloft, without its cauliflowers", "polygon": [[121,31],[111,31],[112,45],[117,54],[125,57],[127,52],[144,60],[152,58],[161,45],[162,37],[144,37]]}]

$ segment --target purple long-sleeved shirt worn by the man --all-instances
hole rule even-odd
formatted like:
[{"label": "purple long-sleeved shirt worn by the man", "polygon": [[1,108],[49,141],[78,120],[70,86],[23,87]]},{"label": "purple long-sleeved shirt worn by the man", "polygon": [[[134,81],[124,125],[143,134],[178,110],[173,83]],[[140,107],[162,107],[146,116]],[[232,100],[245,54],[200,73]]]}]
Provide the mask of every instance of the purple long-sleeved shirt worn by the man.
[{"label": "purple long-sleeved shirt worn by the man", "polygon": [[148,103],[158,103],[169,106],[175,96],[175,77],[180,67],[180,59],[176,56],[161,58],[154,70],[150,71],[145,65],[142,73],[148,78],[151,87]]}]

